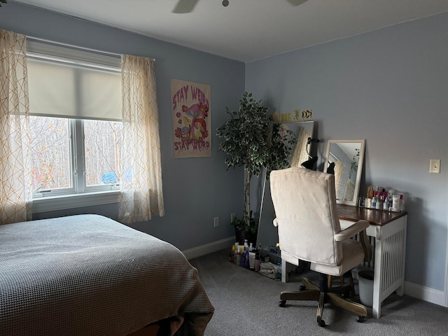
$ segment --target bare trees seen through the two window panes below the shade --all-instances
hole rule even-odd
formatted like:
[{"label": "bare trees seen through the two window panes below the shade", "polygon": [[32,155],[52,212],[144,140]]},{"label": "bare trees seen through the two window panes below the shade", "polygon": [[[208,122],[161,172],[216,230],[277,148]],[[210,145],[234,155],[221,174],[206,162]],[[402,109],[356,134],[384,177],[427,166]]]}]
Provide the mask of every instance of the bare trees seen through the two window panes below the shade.
[{"label": "bare trees seen through the two window panes below the shade", "polygon": [[70,119],[30,117],[32,190],[73,188],[71,160],[85,167],[87,188],[120,184],[122,123],[83,120],[83,124],[85,162],[71,151]]}]

